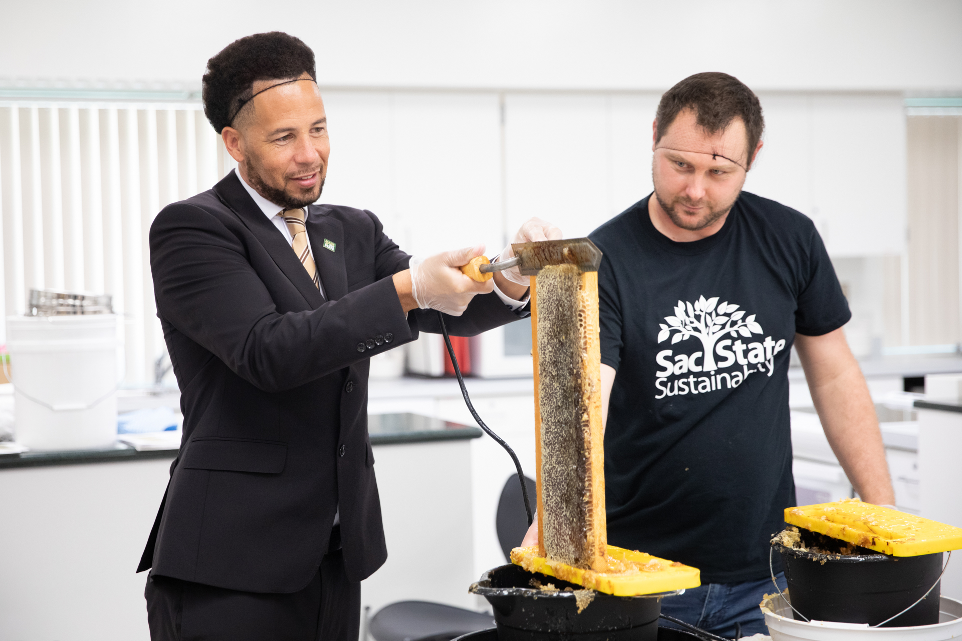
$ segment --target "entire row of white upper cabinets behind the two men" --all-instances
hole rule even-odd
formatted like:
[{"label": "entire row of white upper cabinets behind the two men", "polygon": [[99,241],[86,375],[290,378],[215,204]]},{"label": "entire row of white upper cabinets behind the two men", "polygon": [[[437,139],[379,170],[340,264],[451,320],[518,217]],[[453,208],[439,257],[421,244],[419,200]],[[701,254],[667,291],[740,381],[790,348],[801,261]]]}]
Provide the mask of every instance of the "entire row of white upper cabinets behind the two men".
[{"label": "entire row of white upper cabinets behind the two men", "polygon": [[[566,236],[586,235],[651,189],[657,92],[509,91],[503,111],[494,91],[332,90],[324,98],[331,160],[321,201],[373,210],[410,251],[477,239],[494,255],[533,215]],[[760,98],[765,147],[745,188],[811,217],[833,257],[900,254],[901,96]]]}]

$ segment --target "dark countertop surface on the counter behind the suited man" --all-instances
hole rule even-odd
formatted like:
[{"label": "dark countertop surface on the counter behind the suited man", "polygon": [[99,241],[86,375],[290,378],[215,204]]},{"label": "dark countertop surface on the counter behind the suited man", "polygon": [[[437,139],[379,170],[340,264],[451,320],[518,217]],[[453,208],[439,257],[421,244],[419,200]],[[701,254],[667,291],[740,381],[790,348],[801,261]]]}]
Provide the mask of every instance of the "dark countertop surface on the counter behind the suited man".
[{"label": "dark countertop surface on the counter behind the suited man", "polygon": [[[367,416],[367,431],[370,433],[371,445],[464,440],[478,438],[483,433],[478,428],[419,414],[370,414]],[[113,448],[106,450],[23,452],[0,456],[0,469],[174,458],[177,452],[177,450],[138,452],[123,443],[117,443]]]}]

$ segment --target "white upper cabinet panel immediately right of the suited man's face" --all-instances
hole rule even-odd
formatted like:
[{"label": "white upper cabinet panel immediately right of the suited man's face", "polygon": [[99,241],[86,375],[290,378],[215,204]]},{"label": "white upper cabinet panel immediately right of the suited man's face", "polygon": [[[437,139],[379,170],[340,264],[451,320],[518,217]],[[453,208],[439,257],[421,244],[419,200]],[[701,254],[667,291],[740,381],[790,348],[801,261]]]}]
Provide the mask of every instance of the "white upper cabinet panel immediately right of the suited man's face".
[{"label": "white upper cabinet panel immediately right of the suited man's face", "polygon": [[327,91],[321,203],[373,211],[410,254],[504,241],[494,93]]}]

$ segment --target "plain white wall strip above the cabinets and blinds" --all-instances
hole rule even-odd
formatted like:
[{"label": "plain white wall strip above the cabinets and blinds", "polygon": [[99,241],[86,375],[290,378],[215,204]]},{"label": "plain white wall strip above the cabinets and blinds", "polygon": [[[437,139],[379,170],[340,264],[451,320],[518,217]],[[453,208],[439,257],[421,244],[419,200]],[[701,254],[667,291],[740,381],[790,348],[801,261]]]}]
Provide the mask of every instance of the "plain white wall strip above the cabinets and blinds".
[{"label": "plain white wall strip above the cabinets and blinds", "polygon": [[5,0],[0,78],[195,86],[224,45],[282,30],[322,83],[665,89],[705,70],[756,89],[962,88],[956,0]]}]

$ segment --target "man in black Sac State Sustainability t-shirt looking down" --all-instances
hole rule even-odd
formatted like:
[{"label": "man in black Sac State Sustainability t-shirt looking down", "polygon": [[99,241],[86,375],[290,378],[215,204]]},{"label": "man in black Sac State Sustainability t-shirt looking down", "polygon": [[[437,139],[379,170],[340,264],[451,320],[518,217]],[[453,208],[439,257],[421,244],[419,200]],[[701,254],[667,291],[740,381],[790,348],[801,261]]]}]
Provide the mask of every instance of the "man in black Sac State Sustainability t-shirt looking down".
[{"label": "man in black Sac State Sustainability t-shirt looking down", "polygon": [[654,193],[591,234],[604,254],[608,542],[699,568],[701,587],[662,610],[726,637],[767,633],[768,542],[796,505],[793,343],[848,479],[863,500],[894,503],[822,238],[742,191],[763,127],[758,98],[731,76],[672,87],[653,126]]}]

